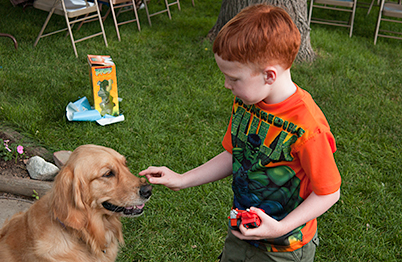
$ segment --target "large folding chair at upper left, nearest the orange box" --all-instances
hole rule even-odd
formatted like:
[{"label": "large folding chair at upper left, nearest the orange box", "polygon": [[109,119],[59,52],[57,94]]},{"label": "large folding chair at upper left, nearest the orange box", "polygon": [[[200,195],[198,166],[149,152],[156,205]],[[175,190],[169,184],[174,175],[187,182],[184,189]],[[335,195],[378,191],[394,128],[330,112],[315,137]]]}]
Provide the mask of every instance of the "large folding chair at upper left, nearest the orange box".
[{"label": "large folding chair at upper left, nearest the orange box", "polygon": [[[105,30],[103,28],[103,23],[102,23],[102,18],[101,18],[100,11],[99,11],[98,3],[97,3],[97,0],[93,0],[93,1],[94,2],[88,2],[87,0],[36,0],[33,4],[34,7],[37,9],[49,12],[49,15],[47,16],[46,21],[43,24],[38,37],[36,38],[34,46],[36,46],[38,44],[39,40],[43,37],[50,36],[50,35],[60,33],[63,31],[68,31],[76,57],[78,57],[78,53],[77,53],[77,48],[75,47],[75,43],[87,40],[92,37],[103,35],[103,39],[104,39],[105,45],[107,47],[108,44],[107,44],[107,40],[106,40],[106,34],[105,34]],[[46,26],[49,23],[49,20],[53,14],[64,16],[66,19],[67,27],[44,34]],[[72,32],[72,27],[74,26],[74,24],[83,22],[83,21],[86,21],[89,19],[93,19],[95,17],[97,17],[99,20],[101,31],[98,33],[75,40],[74,36],[73,36],[73,32]]]}]

